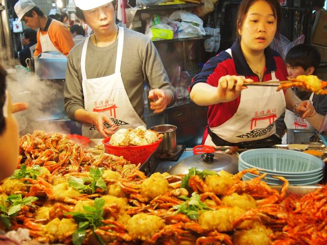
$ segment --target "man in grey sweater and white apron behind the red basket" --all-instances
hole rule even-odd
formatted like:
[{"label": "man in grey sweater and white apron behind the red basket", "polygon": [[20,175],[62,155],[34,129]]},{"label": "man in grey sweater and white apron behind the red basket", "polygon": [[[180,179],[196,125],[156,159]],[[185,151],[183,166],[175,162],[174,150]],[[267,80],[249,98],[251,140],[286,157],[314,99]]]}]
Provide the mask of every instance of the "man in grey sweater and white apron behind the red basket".
[{"label": "man in grey sweater and white apron behind the red basket", "polygon": [[118,128],[145,126],[144,82],[152,90],[150,109],[162,112],[175,103],[176,91],[152,41],[115,24],[116,2],[75,0],[76,16],[94,34],[68,55],[64,102],[82,134],[103,138]]}]

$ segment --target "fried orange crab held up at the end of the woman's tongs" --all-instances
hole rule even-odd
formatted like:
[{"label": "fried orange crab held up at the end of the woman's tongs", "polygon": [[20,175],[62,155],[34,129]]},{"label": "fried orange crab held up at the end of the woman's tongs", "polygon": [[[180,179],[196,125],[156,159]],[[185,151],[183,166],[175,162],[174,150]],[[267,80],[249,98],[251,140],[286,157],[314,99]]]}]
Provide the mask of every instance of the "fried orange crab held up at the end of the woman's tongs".
[{"label": "fried orange crab held up at the end of the woman's tongs", "polygon": [[321,81],[315,75],[298,75],[296,78],[288,78],[289,83],[282,83],[277,91],[297,87],[303,90],[311,91],[317,95],[327,95],[327,81]]}]

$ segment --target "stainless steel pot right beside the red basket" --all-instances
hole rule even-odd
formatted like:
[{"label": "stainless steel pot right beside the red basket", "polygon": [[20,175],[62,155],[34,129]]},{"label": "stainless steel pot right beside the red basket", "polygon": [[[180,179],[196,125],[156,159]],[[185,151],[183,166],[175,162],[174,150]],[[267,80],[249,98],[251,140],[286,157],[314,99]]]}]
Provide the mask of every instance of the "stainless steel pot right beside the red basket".
[{"label": "stainless steel pot right beside the red basket", "polygon": [[152,126],[150,129],[163,134],[163,140],[161,143],[161,154],[167,151],[171,153],[176,152],[176,126],[170,124],[162,124]]}]

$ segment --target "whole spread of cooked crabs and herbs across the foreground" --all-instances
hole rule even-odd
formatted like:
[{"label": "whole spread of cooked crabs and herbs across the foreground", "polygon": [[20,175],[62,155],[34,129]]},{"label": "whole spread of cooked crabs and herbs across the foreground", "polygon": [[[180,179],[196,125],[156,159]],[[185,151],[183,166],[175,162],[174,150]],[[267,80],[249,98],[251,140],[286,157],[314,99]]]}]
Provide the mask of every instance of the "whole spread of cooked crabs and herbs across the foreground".
[{"label": "whole spread of cooked crabs and herbs across the foreground", "polygon": [[[40,157],[51,156],[59,167],[34,161],[40,134],[43,150],[52,152]],[[283,183],[277,191],[256,169],[147,177],[139,166],[94,148],[67,141],[64,151],[58,141],[65,136],[55,135],[22,137],[25,161],[0,185],[2,229],[27,228],[37,241],[67,244],[327,243],[326,186],[293,196],[287,180],[276,177]],[[245,173],[258,177],[242,181]]]}]

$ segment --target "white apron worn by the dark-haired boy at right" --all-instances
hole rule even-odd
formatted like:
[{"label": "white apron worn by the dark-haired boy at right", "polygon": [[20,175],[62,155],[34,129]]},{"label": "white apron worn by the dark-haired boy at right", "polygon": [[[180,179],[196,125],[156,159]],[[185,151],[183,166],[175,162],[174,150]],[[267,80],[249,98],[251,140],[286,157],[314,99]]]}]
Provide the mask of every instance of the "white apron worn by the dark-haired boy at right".
[{"label": "white apron worn by the dark-haired boy at right", "polygon": [[[310,95],[309,100],[312,103],[313,93]],[[314,127],[305,119],[297,117],[293,112],[286,110],[284,122],[288,129],[314,129]],[[282,137],[282,144],[287,144],[287,132]]]}]

